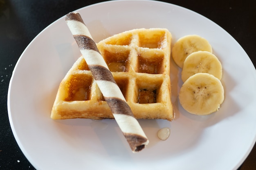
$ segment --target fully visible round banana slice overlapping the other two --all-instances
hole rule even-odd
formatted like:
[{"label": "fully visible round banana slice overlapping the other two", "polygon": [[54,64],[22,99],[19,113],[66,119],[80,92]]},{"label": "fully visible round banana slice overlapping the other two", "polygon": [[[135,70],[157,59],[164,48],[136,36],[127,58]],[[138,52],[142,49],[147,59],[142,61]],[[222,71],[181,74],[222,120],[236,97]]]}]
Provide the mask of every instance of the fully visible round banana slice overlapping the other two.
[{"label": "fully visible round banana slice overlapping the other two", "polygon": [[195,115],[207,115],[218,111],[224,100],[224,88],[218,78],[208,73],[189,77],[180,89],[182,107]]}]

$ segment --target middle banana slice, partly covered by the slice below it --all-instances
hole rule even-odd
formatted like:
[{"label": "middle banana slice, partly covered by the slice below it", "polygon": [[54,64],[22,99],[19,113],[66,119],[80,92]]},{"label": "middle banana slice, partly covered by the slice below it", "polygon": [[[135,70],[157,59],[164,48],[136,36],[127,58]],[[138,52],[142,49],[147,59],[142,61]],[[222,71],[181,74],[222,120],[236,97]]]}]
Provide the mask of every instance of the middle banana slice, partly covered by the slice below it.
[{"label": "middle banana slice, partly covered by the slice below it", "polygon": [[222,65],[218,58],[211,52],[193,52],[184,61],[181,79],[185,82],[186,79],[196,73],[209,73],[220,80],[222,77]]}]

